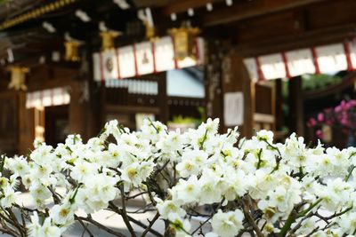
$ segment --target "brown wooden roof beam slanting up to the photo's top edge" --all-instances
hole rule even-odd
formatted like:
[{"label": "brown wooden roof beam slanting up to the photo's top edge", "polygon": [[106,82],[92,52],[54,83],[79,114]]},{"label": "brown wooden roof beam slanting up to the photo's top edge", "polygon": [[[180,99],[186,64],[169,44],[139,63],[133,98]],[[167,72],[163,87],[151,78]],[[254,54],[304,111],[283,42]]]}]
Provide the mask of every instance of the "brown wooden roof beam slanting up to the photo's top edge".
[{"label": "brown wooden roof beam slanting up to the photo's top edge", "polygon": [[281,12],[322,1],[328,0],[254,0],[215,10],[214,12],[204,15],[201,22],[204,26],[210,27],[273,12]]}]

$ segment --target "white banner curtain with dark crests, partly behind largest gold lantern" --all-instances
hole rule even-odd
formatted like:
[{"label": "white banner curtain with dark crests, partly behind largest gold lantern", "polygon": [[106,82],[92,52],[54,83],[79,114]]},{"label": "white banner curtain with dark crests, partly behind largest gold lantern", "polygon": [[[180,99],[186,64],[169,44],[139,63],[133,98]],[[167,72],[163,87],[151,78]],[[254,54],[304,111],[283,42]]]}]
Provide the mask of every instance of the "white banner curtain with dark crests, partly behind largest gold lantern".
[{"label": "white banner curtain with dark crests, partly behind largest gold lantern", "polygon": [[174,68],[193,67],[204,63],[204,40],[195,41],[195,56],[182,60],[174,59],[174,43],[171,36],[155,42],[134,45],[93,53],[93,77],[95,81],[129,78],[164,72]]}]

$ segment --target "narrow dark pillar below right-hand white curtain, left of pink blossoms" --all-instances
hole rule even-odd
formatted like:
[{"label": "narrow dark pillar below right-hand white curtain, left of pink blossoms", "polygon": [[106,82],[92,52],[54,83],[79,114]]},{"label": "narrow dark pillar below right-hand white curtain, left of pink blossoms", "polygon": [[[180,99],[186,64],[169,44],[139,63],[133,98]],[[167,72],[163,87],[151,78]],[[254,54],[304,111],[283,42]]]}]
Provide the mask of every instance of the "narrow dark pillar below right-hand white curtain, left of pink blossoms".
[{"label": "narrow dark pillar below right-hand white curtain, left of pink blossoms", "polygon": [[289,80],[289,129],[298,136],[304,135],[303,124],[303,88],[302,77],[296,76]]}]

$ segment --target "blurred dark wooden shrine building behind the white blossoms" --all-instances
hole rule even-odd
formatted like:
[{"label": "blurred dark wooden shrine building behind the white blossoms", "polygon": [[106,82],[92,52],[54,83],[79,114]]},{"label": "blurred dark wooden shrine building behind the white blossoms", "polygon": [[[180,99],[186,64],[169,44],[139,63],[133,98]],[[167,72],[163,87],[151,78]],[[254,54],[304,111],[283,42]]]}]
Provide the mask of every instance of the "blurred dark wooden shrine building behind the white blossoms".
[{"label": "blurred dark wooden shrine building behind the white blossoms", "polygon": [[[0,4],[2,153],[90,138],[114,118],[136,130],[144,117],[173,128],[219,117],[243,136],[312,138],[308,116],[353,98],[353,0]],[[303,75],[340,71],[337,84],[303,89]]]}]

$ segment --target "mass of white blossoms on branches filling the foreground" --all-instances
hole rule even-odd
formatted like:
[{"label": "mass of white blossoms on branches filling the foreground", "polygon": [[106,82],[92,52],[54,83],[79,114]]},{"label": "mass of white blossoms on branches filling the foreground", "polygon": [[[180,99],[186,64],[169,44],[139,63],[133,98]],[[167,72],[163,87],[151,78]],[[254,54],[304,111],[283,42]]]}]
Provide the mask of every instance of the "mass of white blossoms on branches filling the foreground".
[{"label": "mass of white blossoms on branches filling the foreground", "polygon": [[[181,133],[146,120],[130,131],[111,121],[86,143],[70,135],[56,147],[35,141],[27,156],[3,155],[0,171],[11,175],[0,176],[0,232],[55,237],[77,222],[92,236],[87,223],[124,236],[93,219],[107,209],[132,236],[355,236],[356,148],[310,147],[295,134],[274,143],[267,130],[239,138],[238,128],[218,127],[208,119]],[[19,204],[20,184],[35,209]],[[140,196],[135,213],[156,210],[148,225],[127,211]],[[158,219],[165,230],[153,229]]]}]

